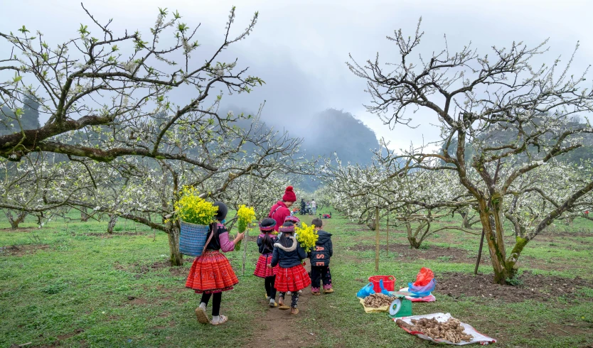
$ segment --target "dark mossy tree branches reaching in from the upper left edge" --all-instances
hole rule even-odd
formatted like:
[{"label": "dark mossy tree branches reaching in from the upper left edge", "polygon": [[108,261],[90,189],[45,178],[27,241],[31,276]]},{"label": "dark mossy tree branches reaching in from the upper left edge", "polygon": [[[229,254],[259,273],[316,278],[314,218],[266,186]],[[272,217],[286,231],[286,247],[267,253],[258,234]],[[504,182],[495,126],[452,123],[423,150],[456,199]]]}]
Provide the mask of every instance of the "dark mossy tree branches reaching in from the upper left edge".
[{"label": "dark mossy tree branches reaching in from the upper left edge", "polygon": [[[16,34],[0,33],[12,45],[0,72],[14,74],[0,84],[0,107],[12,110],[19,124],[23,100],[33,96],[40,114],[48,117],[38,129],[21,127],[0,136],[0,156],[18,161],[27,153],[48,151],[102,162],[143,156],[213,169],[202,158],[171,151],[179,140],[173,129],[203,132],[204,122],[227,127],[232,118],[216,113],[222,92],[213,96],[214,91],[250,92],[264,83],[246,75],[237,60],[217,61],[223,50],[250,35],[258,14],[232,36],[233,7],[223,43],[199,62],[191,58],[200,47],[195,38],[199,25],[190,28],[178,12],[160,9],[149,38],[139,31],[117,36],[109,29],[111,21],[101,24],[88,14],[93,28],[81,24],[78,37],[55,46],[24,26]],[[186,100],[180,100],[183,94]],[[146,121],[161,112],[165,116],[159,123]]]}]

